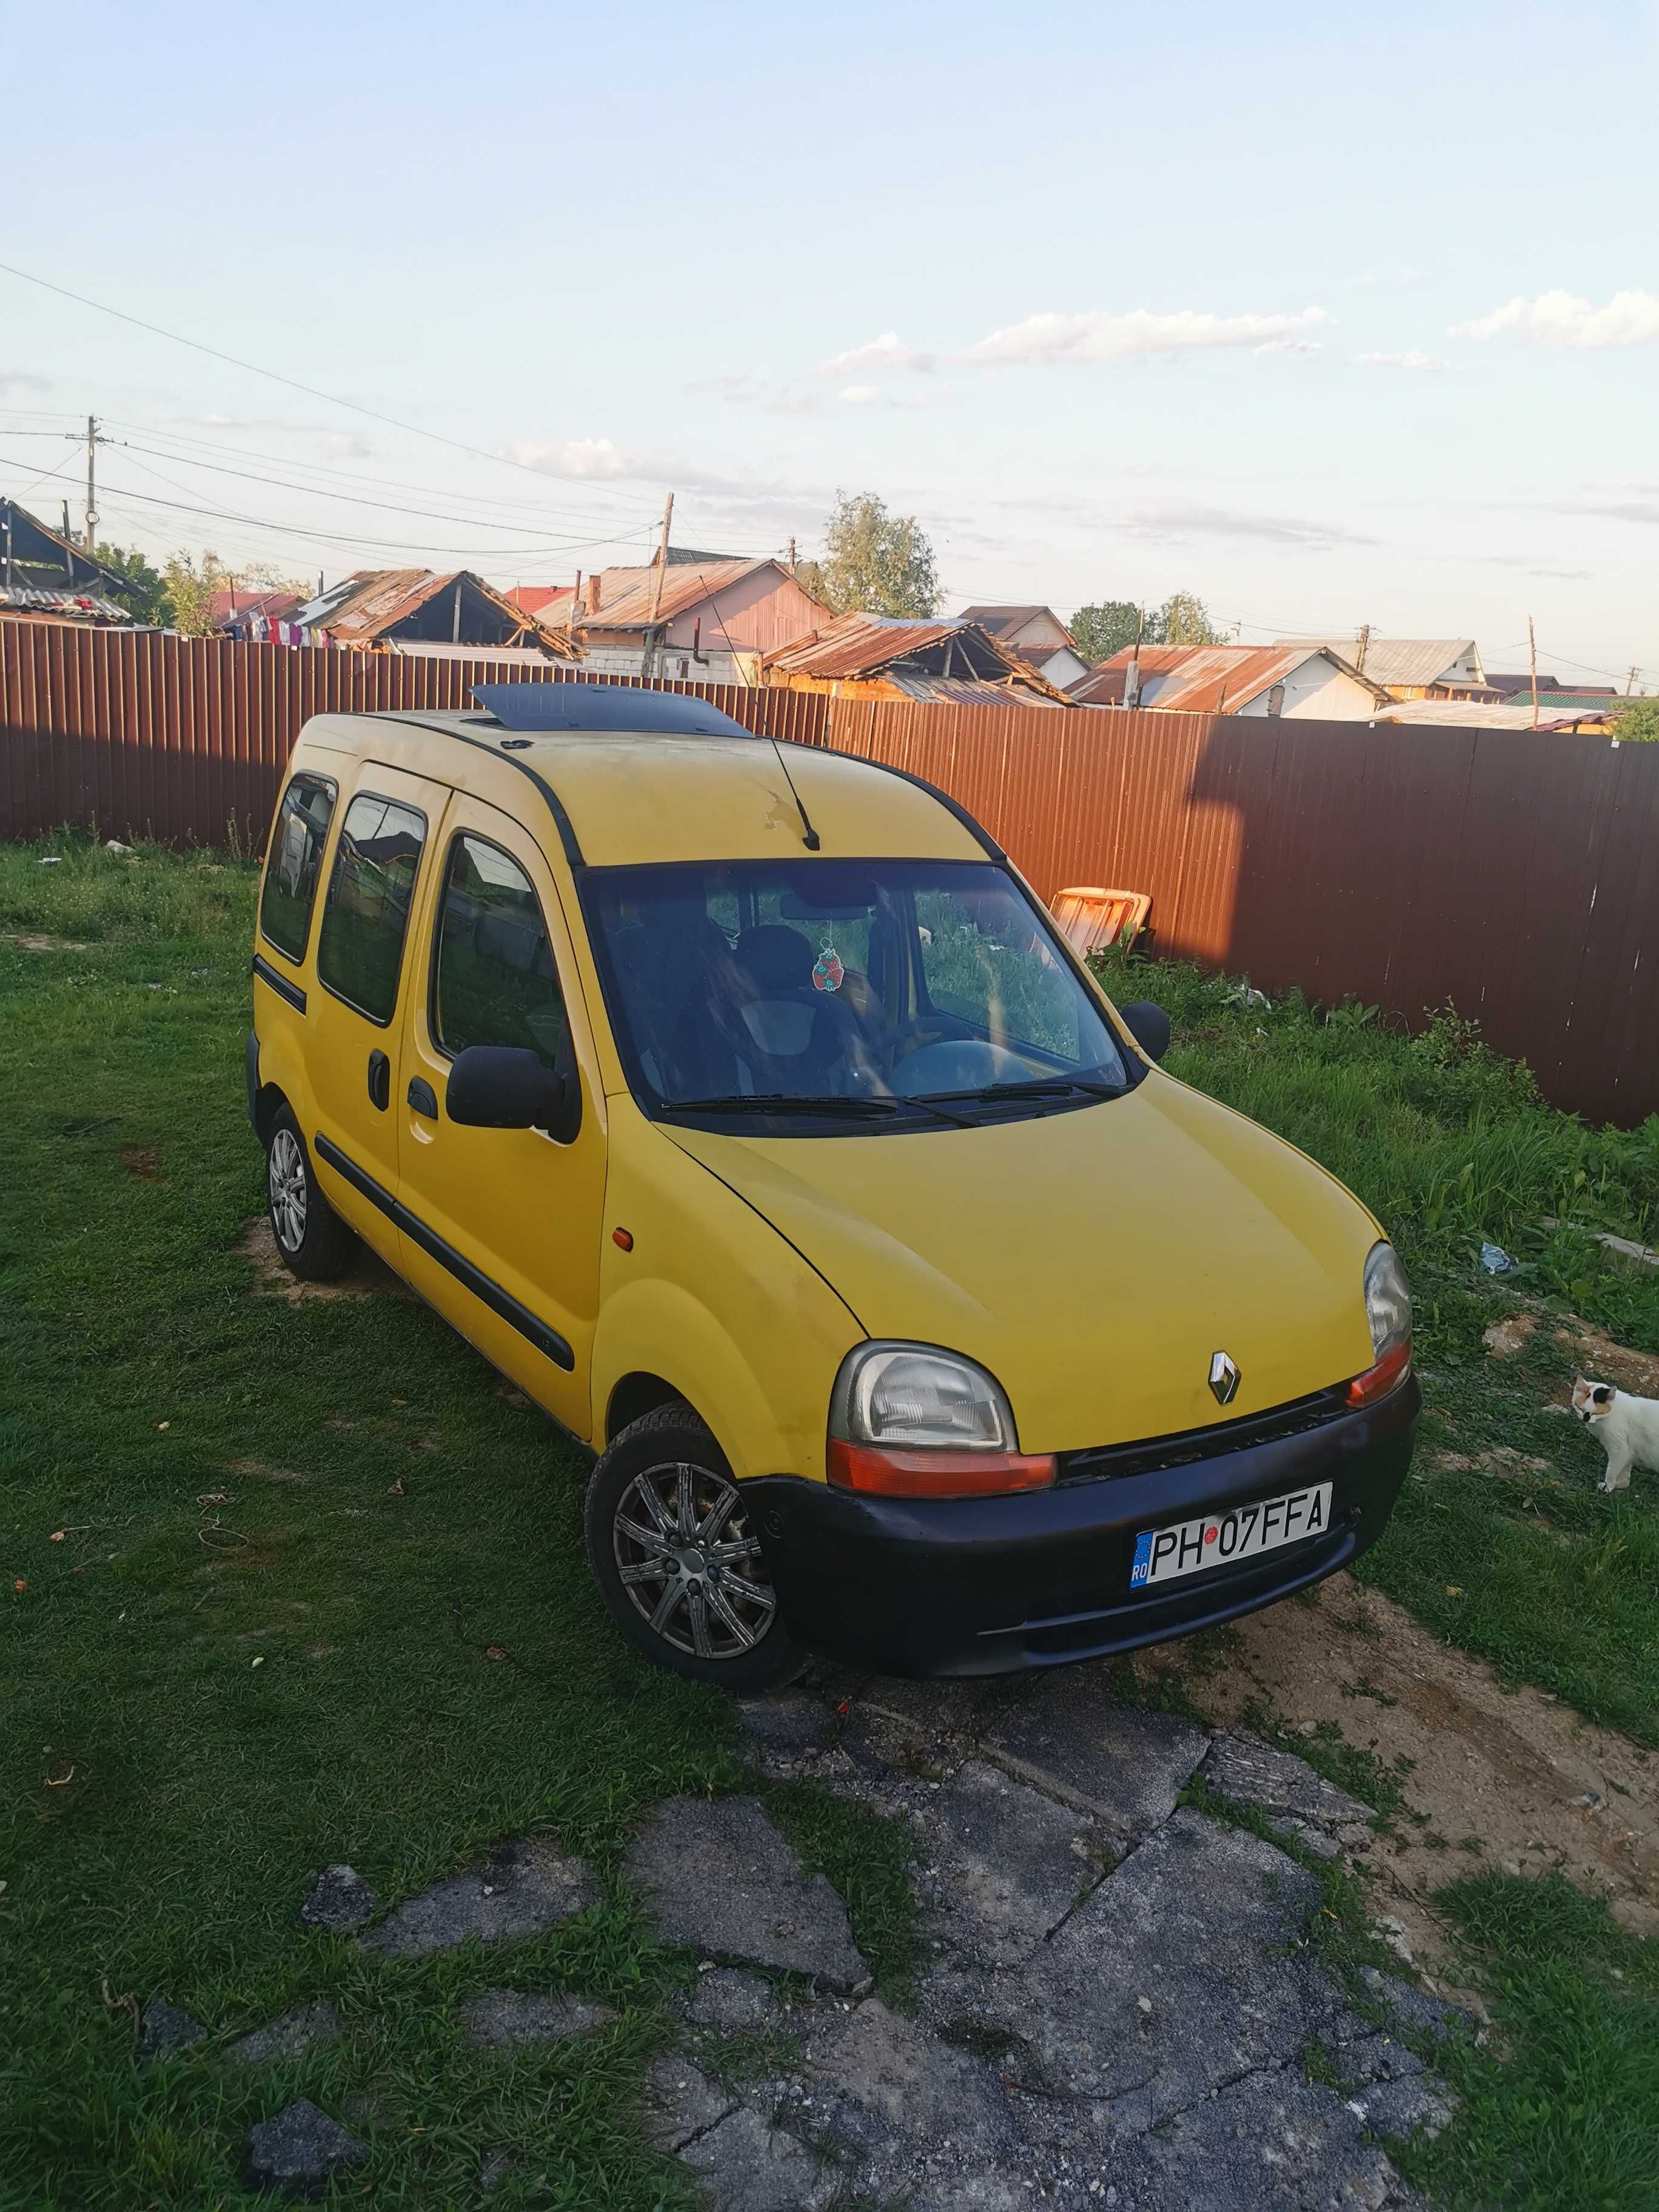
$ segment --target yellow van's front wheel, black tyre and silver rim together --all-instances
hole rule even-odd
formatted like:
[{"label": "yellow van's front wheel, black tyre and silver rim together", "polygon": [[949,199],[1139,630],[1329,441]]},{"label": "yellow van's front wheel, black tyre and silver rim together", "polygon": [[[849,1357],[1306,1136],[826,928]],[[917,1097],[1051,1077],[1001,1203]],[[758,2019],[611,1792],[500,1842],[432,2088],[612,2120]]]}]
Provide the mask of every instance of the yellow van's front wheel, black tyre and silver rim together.
[{"label": "yellow van's front wheel, black tyre and silver rim together", "polygon": [[657,1407],[622,1431],[588,1480],[586,1528],[611,1619],[657,1666],[737,1692],[805,1666],[743,1484],[690,1407]]}]

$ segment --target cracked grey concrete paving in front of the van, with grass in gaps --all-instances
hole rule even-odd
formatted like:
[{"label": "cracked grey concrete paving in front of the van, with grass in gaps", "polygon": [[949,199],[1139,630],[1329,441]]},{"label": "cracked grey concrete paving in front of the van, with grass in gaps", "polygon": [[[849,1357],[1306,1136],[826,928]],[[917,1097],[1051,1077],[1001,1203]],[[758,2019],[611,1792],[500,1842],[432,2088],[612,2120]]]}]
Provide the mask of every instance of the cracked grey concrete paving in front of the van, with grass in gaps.
[{"label": "cracked grey concrete paving in front of the van, with grass in gaps", "polygon": [[[1325,1856],[1367,1820],[1356,1798],[1248,1734],[1113,1705],[1088,1668],[1015,1697],[792,1690],[748,1701],[743,1725],[763,1772],[812,1774],[914,1827],[931,1966],[914,2015],[860,2000],[845,1918],[814,1896],[810,1918],[836,1953],[816,1995],[768,2002],[763,1975],[732,1964],[703,1978],[650,2093],[655,2141],[697,2172],[712,2212],[1418,2205],[1383,2139],[1438,2130],[1451,2101],[1398,2031],[1444,2031],[1455,2015],[1385,1975],[1340,1989],[1307,1944],[1314,1876],[1177,1803],[1203,1774]],[[664,1933],[743,1969],[799,1966],[761,1955],[776,1951],[776,1920],[801,1911],[779,1900],[812,1887],[761,1818],[748,1801],[681,1801],[630,1871]],[[695,1878],[679,1916],[670,1860],[690,1849],[708,1871],[732,1845],[739,1909]],[[719,2086],[732,2033],[765,2037],[776,2070]]]}]

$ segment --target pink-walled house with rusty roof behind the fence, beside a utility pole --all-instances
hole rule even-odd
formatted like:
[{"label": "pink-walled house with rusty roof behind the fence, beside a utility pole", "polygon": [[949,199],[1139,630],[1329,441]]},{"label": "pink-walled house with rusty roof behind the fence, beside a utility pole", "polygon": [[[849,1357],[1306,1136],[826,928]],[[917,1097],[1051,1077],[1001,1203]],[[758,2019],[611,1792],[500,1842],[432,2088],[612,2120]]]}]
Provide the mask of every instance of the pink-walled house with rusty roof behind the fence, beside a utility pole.
[{"label": "pink-walled house with rusty roof behind the fence, beside a utility pole", "polygon": [[787,562],[670,549],[666,564],[599,568],[575,633],[595,675],[754,684],[768,653],[832,611]]}]

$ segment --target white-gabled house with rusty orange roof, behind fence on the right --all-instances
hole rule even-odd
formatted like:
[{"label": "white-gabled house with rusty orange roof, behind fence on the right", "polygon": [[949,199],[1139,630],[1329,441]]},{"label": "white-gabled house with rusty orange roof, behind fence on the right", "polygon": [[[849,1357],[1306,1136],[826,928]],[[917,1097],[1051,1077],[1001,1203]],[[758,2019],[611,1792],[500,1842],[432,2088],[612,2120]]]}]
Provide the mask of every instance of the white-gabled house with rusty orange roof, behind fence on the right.
[{"label": "white-gabled house with rusty orange roof, behind fence on the right", "polygon": [[1175,714],[1285,714],[1374,721],[1394,706],[1329,646],[1124,646],[1073,684],[1077,706],[1150,706]]}]

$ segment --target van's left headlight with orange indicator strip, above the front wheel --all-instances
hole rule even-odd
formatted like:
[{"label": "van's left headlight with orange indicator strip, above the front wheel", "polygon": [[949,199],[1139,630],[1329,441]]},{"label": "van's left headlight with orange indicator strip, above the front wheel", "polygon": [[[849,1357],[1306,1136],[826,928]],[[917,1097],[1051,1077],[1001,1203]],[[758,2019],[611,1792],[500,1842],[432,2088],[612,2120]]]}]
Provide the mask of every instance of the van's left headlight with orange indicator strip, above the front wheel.
[{"label": "van's left headlight with orange indicator strip, above the front wheel", "polygon": [[1002,1387],[931,1345],[858,1345],[830,1394],[830,1480],[889,1498],[1046,1489],[1051,1453],[1022,1453]]}]

